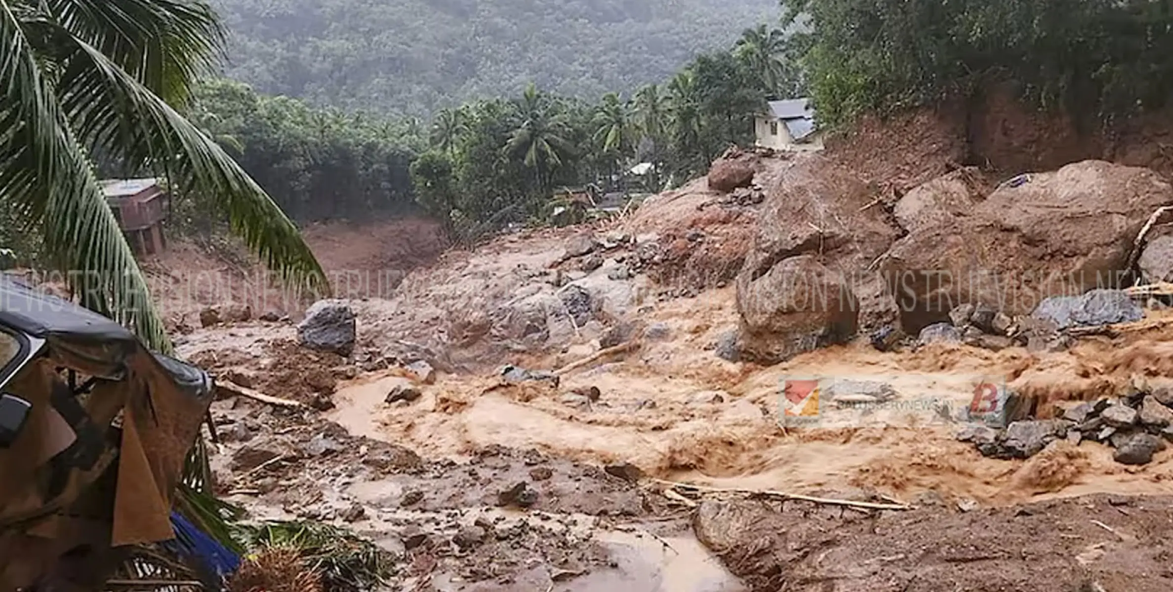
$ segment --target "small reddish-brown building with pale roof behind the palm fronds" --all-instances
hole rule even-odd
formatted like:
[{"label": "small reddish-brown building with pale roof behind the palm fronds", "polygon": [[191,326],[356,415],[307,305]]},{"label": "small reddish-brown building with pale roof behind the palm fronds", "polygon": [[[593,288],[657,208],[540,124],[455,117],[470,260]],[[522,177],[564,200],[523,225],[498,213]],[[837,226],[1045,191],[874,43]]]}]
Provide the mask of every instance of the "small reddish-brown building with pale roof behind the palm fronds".
[{"label": "small reddish-brown building with pale roof behind the palm fronds", "polygon": [[131,249],[148,254],[162,252],[169,197],[158,179],[103,181],[102,189]]}]

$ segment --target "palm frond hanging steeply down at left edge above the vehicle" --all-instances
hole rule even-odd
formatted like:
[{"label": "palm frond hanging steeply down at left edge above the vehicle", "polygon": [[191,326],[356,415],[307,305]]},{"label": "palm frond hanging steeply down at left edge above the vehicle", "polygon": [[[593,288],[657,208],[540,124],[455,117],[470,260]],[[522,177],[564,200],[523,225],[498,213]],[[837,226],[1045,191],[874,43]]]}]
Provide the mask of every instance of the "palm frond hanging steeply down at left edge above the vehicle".
[{"label": "palm frond hanging steeply down at left edge above the vehicle", "polygon": [[[110,212],[93,165],[42,75],[7,0],[0,0],[0,196],[45,249],[84,306],[130,325],[151,347],[170,352],[147,283]],[[73,272],[84,270],[84,273]]]}]

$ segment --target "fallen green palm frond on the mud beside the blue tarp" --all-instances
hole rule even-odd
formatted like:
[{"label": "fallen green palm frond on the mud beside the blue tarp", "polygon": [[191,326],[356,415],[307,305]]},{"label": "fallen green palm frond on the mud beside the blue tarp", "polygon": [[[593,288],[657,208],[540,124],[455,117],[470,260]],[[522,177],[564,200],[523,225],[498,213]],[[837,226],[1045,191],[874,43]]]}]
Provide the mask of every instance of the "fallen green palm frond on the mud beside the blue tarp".
[{"label": "fallen green palm frond on the mud beside the blue tarp", "polygon": [[[321,590],[326,592],[373,590],[391,574],[391,560],[385,551],[328,524],[264,523],[243,526],[240,538],[250,549],[296,549],[305,567],[320,576]],[[232,590],[240,592],[235,586]]]}]

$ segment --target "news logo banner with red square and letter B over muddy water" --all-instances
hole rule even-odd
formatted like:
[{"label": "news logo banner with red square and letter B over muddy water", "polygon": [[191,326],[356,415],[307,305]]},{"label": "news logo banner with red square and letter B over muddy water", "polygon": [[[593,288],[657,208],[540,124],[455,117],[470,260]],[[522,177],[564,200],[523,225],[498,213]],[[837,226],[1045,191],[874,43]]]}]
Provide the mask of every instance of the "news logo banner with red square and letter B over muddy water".
[{"label": "news logo banner with red square and letter B over muddy water", "polygon": [[[907,382],[901,376],[784,376],[779,381],[778,422],[784,428],[861,427],[879,417],[902,424],[910,416],[916,426],[981,423],[995,428],[1006,423],[1009,392],[1005,381],[986,375],[917,375],[917,396],[902,396],[884,386]],[[931,385],[931,388],[925,387]],[[880,388],[877,388],[880,387]],[[884,393],[876,395],[880,390]],[[891,397],[888,394],[894,395]]]}]

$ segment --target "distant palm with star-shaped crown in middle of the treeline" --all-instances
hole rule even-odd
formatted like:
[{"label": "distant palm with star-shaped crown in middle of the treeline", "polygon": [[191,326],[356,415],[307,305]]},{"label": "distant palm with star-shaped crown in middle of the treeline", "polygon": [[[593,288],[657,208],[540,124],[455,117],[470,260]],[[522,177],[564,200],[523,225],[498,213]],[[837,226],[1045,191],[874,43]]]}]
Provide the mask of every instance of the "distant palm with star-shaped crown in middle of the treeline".
[{"label": "distant palm with star-shaped crown in middle of the treeline", "polygon": [[533,82],[514,102],[514,110],[516,123],[506,142],[506,155],[520,157],[522,164],[534,170],[537,189],[544,196],[549,192],[552,171],[570,154],[570,143],[565,140],[570,131],[567,116]]}]

